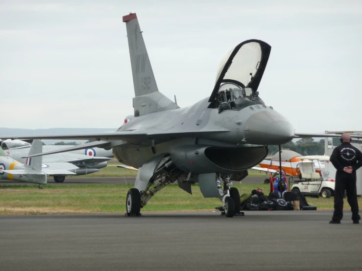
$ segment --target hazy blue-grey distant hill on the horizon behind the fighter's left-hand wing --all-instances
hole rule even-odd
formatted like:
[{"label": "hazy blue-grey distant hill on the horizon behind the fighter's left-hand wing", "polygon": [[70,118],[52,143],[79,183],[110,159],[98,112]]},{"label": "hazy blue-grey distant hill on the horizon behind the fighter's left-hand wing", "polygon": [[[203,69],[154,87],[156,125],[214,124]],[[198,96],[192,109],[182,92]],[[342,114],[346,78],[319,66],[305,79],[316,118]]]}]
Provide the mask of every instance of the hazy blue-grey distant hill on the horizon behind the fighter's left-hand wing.
[{"label": "hazy blue-grey distant hill on the horizon behind the fighter's left-hand wing", "polygon": [[[97,133],[97,132],[114,132],[118,128],[50,128],[50,129],[18,129],[18,128],[1,128],[0,138],[6,139],[3,136],[37,136],[37,135],[55,135],[55,134],[83,134],[83,133]],[[45,144],[54,144],[56,142],[74,142],[79,141],[84,143],[87,140],[43,140]]]}]

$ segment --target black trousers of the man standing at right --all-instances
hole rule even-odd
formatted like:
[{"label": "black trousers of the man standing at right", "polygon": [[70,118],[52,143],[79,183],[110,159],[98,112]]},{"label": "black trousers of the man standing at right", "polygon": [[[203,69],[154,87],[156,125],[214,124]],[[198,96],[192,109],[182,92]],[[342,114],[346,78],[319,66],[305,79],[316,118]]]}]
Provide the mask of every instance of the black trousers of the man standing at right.
[{"label": "black trousers of the man standing at right", "polygon": [[356,173],[348,174],[344,171],[337,171],[336,173],[335,211],[332,219],[339,221],[343,217],[344,190],[347,192],[347,202],[349,206],[351,206],[352,220],[360,220],[361,217],[358,214]]}]

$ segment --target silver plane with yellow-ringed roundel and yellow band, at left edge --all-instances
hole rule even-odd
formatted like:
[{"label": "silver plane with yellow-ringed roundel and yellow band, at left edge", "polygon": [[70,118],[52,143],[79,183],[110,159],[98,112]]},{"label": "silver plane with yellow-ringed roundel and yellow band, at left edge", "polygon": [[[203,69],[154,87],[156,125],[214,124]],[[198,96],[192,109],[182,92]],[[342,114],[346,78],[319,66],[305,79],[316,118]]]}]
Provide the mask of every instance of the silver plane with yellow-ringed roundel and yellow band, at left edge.
[{"label": "silver plane with yellow-ringed roundel and yellow band, at left edge", "polygon": [[[43,142],[34,140],[29,155],[42,153]],[[10,158],[0,147],[0,179],[47,184],[47,175],[74,175],[77,169],[71,163],[42,163],[42,156],[26,158],[25,164]]]}]

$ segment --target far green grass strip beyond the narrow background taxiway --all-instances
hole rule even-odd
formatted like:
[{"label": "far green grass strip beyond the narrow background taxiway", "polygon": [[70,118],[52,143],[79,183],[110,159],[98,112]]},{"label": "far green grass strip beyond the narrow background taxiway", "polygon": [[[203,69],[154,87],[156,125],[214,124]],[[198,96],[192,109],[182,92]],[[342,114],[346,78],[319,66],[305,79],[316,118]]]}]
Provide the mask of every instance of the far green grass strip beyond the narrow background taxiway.
[{"label": "far green grass strip beyond the narrow background taxiway", "polygon": [[[118,163],[119,164],[119,163]],[[115,164],[112,164],[115,165]],[[84,177],[136,177],[137,170],[125,169],[117,166],[106,166],[101,168],[98,172],[87,174],[87,175],[75,175],[68,176],[67,178],[84,178]],[[251,177],[267,177],[265,172],[260,172],[258,170],[249,169],[249,176]]]}]

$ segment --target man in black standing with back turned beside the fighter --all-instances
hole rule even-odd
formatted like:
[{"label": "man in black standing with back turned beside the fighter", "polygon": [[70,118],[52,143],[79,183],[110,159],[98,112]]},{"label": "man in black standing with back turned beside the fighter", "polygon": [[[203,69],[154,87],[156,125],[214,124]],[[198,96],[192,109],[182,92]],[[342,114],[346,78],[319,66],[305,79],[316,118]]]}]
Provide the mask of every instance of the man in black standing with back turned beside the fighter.
[{"label": "man in black standing with back turned beside the fighter", "polygon": [[331,155],[330,161],[337,169],[335,186],[335,210],[330,224],[340,224],[343,217],[343,197],[347,192],[347,201],[351,206],[352,221],[354,224],[360,223],[358,214],[356,171],[362,166],[362,153],[359,149],[351,145],[351,136],[342,134],[341,145],[336,147]]}]

